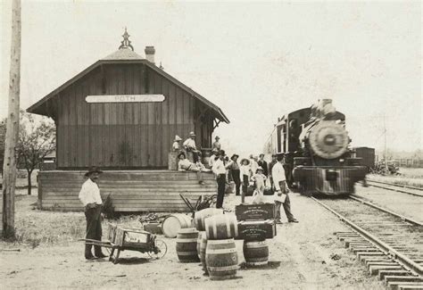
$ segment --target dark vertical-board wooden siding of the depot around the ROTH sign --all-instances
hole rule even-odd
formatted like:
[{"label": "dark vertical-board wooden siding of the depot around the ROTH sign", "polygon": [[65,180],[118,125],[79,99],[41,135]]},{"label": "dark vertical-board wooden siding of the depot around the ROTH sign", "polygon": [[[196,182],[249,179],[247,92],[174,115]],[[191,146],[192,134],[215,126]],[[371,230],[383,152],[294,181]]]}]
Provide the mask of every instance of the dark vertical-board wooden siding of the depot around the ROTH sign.
[{"label": "dark vertical-board wooden siding of the depot around the ROTH sign", "polygon": [[[162,94],[165,100],[148,104],[85,101],[87,95],[137,94]],[[197,145],[211,145],[211,116],[203,117],[207,124],[196,118],[205,106],[142,63],[101,65],[63,89],[55,100],[59,169],[166,168],[173,137],[185,139],[189,131],[196,132]]]}]

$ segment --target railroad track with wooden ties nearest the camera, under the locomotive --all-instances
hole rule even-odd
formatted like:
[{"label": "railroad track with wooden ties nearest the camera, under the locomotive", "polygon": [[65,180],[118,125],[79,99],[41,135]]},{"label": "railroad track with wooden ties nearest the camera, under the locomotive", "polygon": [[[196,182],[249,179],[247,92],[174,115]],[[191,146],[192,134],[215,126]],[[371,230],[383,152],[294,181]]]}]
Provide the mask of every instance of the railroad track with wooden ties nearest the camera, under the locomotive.
[{"label": "railroad track with wooden ties nearest the camera, under the locomotive", "polygon": [[[390,289],[423,289],[423,224],[361,198],[316,199],[352,231],[336,236]],[[411,287],[412,286],[412,287]]]}]

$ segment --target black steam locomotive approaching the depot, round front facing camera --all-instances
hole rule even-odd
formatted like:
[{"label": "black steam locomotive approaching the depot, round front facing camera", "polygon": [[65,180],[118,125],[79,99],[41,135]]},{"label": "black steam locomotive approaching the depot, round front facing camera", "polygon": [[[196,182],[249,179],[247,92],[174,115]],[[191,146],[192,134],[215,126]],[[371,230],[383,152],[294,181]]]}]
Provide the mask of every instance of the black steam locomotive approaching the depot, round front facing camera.
[{"label": "black steam locomotive approaching the depot, round front facing camera", "polygon": [[285,153],[286,183],[301,194],[349,195],[367,172],[350,143],[344,114],[322,99],[279,118],[264,152]]}]

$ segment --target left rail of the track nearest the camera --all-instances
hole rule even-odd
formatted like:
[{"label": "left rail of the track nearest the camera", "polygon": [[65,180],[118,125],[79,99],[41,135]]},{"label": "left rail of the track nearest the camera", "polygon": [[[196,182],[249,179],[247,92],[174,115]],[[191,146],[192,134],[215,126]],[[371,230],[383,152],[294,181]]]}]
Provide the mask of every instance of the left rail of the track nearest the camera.
[{"label": "left rail of the track nearest the camera", "polygon": [[372,242],[373,244],[376,244],[377,247],[379,247],[380,249],[382,249],[383,252],[388,253],[391,256],[393,256],[394,259],[396,259],[397,261],[399,261],[400,263],[402,263],[402,265],[404,265],[405,268],[410,269],[412,272],[416,273],[420,277],[423,276],[423,267],[420,266],[419,263],[417,263],[415,261],[412,261],[409,257],[407,257],[404,254],[398,252],[397,250],[395,250],[390,245],[382,242],[380,239],[378,239],[376,236],[373,236],[372,234],[370,234],[364,228],[359,227],[358,225],[356,225],[355,223],[353,223],[351,220],[348,220],[347,218],[345,218],[342,214],[340,214],[340,213],[336,212],[335,210],[331,209],[327,204],[319,202],[319,200],[317,200],[314,197],[311,197],[311,199],[314,200],[316,203],[319,203],[321,206],[323,206],[324,208],[326,208],[328,211],[331,211],[340,220],[343,220],[344,223],[346,223],[351,228],[353,228],[357,232],[359,232],[359,234],[361,234],[361,236],[364,236],[370,242]]}]

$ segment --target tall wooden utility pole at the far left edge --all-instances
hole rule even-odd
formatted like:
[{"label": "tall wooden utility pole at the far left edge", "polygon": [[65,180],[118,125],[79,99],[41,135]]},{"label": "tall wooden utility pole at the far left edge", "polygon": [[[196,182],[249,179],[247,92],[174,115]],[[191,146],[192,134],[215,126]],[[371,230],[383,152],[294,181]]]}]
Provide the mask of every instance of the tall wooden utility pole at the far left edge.
[{"label": "tall wooden utility pole at the far left edge", "polygon": [[9,107],[3,164],[3,236],[14,236],[14,189],[16,185],[15,148],[19,137],[21,86],[21,0],[12,0],[12,44],[9,77]]}]

